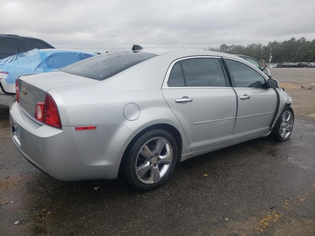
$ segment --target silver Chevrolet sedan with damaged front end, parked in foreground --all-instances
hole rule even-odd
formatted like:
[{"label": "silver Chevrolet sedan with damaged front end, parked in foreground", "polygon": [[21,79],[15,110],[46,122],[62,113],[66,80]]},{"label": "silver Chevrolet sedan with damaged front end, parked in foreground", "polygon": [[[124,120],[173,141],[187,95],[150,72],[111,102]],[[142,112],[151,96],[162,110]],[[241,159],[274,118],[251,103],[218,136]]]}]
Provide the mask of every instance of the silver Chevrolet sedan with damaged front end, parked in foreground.
[{"label": "silver Chevrolet sedan with damaged front end, parked in foreground", "polygon": [[178,161],[259,137],[289,139],[291,97],[239,57],[203,50],[118,51],[20,76],[12,140],[60,180],[165,183]]}]

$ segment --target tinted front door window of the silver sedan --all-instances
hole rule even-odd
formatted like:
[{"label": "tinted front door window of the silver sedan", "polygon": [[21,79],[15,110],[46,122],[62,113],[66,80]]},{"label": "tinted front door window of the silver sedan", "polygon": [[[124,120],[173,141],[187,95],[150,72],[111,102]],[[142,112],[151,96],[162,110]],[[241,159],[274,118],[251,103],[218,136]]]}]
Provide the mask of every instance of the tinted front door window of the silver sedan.
[{"label": "tinted front door window of the silver sedan", "polygon": [[225,60],[233,75],[235,85],[238,88],[263,88],[265,79],[250,66],[235,61]]}]

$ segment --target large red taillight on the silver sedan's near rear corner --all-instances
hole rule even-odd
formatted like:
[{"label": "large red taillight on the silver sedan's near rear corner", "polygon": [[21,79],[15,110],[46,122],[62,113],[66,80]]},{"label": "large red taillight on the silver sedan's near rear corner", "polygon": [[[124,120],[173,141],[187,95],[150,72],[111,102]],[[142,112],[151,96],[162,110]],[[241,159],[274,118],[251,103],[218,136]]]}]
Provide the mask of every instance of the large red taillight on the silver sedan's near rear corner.
[{"label": "large red taillight on the silver sedan's near rear corner", "polygon": [[38,102],[36,104],[35,118],[45,124],[61,128],[57,105],[48,93],[46,93],[45,102]]}]

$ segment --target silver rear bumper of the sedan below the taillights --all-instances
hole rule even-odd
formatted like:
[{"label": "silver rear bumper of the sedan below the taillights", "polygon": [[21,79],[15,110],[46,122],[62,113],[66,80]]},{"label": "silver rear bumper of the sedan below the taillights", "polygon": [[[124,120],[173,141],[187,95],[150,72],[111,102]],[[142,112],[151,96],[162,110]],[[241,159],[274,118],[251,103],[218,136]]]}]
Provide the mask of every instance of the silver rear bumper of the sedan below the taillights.
[{"label": "silver rear bumper of the sedan below the taillights", "polygon": [[20,127],[16,148],[38,169],[59,180],[116,178],[123,153],[134,133],[121,124],[97,125],[96,130],[75,131],[40,125],[15,103],[12,120]]}]

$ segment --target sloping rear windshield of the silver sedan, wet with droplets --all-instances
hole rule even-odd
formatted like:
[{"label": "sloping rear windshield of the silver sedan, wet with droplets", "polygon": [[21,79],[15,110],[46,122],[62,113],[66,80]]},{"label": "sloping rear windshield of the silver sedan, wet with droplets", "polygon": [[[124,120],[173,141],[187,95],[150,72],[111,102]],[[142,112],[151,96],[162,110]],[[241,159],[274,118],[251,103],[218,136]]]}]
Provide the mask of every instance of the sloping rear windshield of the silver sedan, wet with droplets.
[{"label": "sloping rear windshield of the silver sedan, wet with droplets", "polygon": [[122,51],[107,53],[79,61],[63,68],[61,71],[94,80],[105,80],[142,61],[156,57],[151,53]]}]

